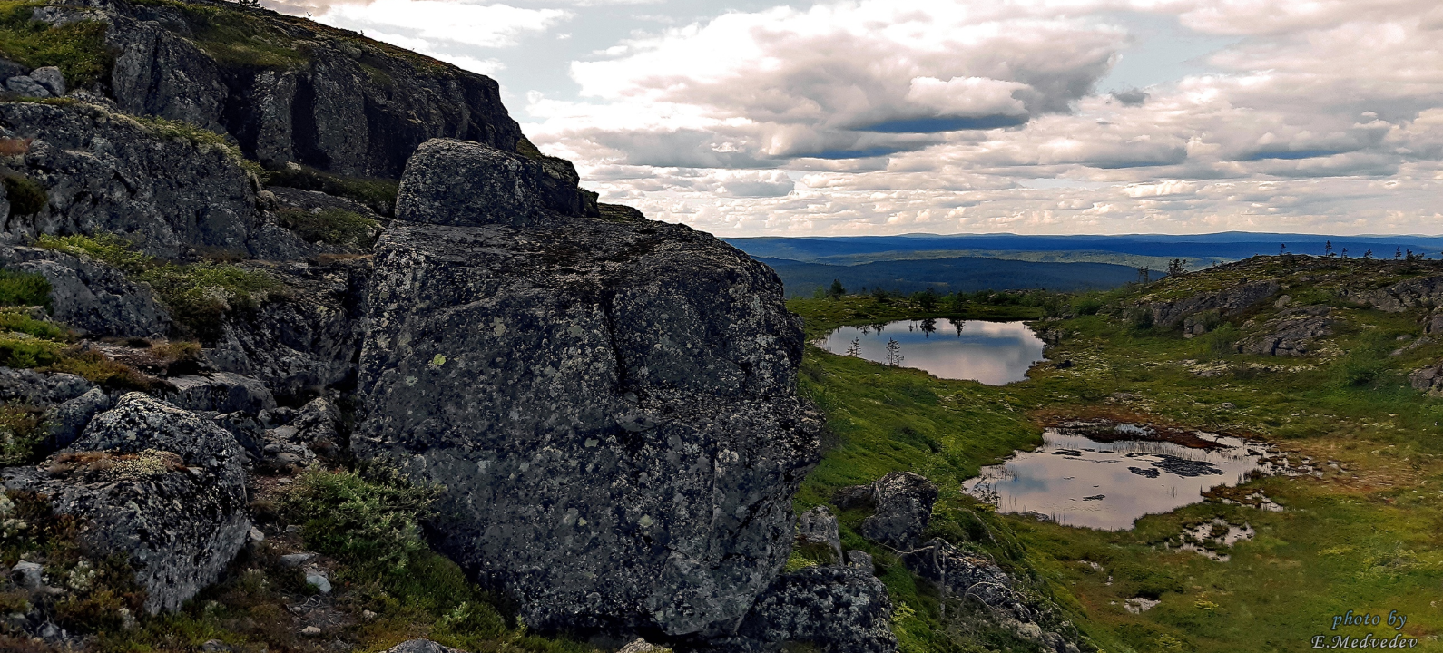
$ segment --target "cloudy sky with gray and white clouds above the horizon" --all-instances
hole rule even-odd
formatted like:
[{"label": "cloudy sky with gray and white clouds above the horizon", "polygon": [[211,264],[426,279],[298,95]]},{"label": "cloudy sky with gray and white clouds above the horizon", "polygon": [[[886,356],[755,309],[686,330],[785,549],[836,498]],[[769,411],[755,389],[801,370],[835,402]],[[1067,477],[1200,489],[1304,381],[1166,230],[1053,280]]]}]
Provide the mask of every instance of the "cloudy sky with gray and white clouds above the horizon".
[{"label": "cloudy sky with gray and white clouds above the horizon", "polygon": [[1443,234],[1437,0],[263,0],[722,236]]}]

